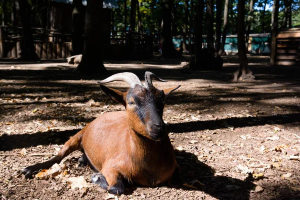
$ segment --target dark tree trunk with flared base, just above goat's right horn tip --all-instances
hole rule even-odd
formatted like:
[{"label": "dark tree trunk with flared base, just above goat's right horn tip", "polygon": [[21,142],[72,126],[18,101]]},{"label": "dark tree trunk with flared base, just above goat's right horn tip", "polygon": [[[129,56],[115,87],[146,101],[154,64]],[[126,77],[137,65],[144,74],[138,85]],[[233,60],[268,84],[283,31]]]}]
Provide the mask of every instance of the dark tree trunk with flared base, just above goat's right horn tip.
[{"label": "dark tree trunk with flared base, just above goat's right horn tip", "polygon": [[172,41],[172,9],[174,0],[162,0],[162,39],[161,51],[162,57],[175,58],[181,54],[175,50]]}]

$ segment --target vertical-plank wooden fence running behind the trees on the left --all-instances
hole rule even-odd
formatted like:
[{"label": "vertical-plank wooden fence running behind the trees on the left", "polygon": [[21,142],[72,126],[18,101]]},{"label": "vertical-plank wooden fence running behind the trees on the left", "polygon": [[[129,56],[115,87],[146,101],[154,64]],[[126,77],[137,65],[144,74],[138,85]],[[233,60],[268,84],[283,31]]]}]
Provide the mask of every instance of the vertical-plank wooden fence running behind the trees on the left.
[{"label": "vertical-plank wooden fence running behind the trees on the left", "polygon": [[[21,27],[0,26],[0,58],[21,56]],[[32,28],[33,44],[41,59],[66,58],[72,54],[71,34],[58,30]],[[104,59],[150,58],[153,54],[153,39],[136,32],[115,32],[110,43],[103,45]]]}]

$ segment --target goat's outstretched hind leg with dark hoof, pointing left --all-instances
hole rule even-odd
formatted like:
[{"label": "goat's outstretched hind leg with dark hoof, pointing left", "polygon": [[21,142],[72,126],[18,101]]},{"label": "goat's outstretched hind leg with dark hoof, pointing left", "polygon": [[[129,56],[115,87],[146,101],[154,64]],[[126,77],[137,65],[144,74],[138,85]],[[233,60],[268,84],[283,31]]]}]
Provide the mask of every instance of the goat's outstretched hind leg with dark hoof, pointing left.
[{"label": "goat's outstretched hind leg with dark hoof, pointing left", "polygon": [[40,169],[46,169],[55,163],[59,163],[69,153],[75,150],[79,150],[81,148],[80,141],[81,141],[81,131],[79,131],[74,136],[70,137],[70,139],[64,143],[63,147],[60,149],[60,151],[56,156],[54,156],[53,158],[45,162],[27,166],[22,170],[22,173],[25,175],[26,178],[31,178],[32,174],[37,173]]}]

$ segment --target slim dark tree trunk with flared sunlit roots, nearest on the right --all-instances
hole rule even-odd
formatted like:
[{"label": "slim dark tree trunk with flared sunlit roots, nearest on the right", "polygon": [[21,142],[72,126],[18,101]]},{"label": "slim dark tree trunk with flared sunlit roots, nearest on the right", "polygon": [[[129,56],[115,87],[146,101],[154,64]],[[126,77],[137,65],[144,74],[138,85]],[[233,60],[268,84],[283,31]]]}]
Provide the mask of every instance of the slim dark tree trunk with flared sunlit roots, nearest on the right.
[{"label": "slim dark tree trunk with flared sunlit roots, nearest on the right", "polygon": [[238,0],[237,3],[237,48],[238,48],[238,59],[239,66],[238,69],[233,73],[233,81],[241,80],[252,80],[254,75],[252,71],[248,68],[248,61],[246,55],[245,47],[245,0]]}]

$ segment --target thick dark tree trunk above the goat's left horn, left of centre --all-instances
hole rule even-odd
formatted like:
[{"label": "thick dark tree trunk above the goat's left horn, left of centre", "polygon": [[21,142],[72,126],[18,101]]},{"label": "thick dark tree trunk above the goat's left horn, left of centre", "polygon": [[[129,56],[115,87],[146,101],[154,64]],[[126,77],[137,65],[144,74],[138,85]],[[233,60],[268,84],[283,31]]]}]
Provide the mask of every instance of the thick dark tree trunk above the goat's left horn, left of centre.
[{"label": "thick dark tree trunk above the goat's left horn, left of centre", "polygon": [[103,0],[87,0],[86,3],[84,47],[77,70],[84,74],[99,74],[106,70],[102,60]]}]

